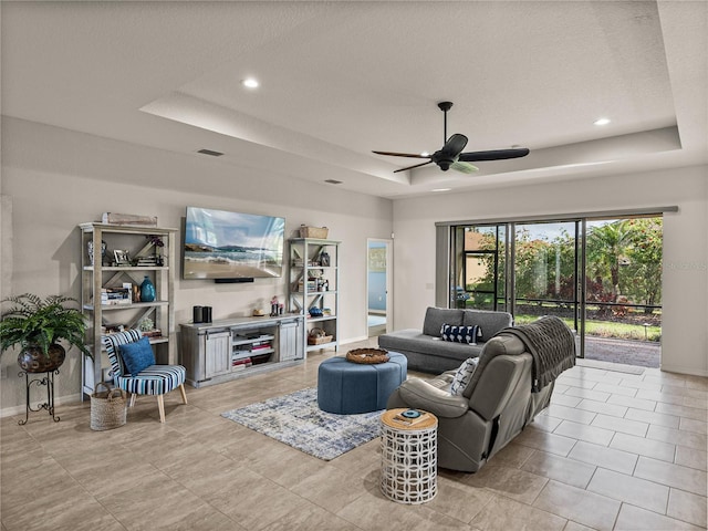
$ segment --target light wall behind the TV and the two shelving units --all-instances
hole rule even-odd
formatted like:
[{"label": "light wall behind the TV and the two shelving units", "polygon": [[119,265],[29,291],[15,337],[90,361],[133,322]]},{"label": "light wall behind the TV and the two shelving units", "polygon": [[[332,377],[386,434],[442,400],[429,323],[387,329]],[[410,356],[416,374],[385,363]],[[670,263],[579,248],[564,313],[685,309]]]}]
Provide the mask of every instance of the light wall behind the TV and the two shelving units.
[{"label": "light wall behind the TV and the two shelving units", "polygon": [[[77,223],[113,211],[157,216],[160,227],[180,228],[190,205],[283,216],[287,235],[301,223],[329,227],[330,238],[342,241],[341,339],[367,335],[366,244],[367,238],[391,236],[389,200],[7,117],[1,184],[2,298],[33,292],[79,299]],[[195,304],[214,306],[214,319],[247,315],[257,305],[268,309],[273,295],[284,300],[285,281],[178,280],[176,321],[190,321]],[[58,376],[60,403],[80,396],[81,362],[76,351],[72,354]],[[14,356],[6,354],[0,362],[9,374],[0,386],[0,407],[6,413],[20,406],[23,410],[24,388],[15,376]]]}]

